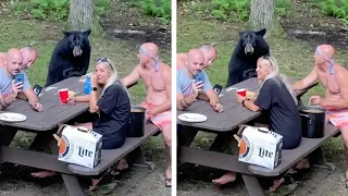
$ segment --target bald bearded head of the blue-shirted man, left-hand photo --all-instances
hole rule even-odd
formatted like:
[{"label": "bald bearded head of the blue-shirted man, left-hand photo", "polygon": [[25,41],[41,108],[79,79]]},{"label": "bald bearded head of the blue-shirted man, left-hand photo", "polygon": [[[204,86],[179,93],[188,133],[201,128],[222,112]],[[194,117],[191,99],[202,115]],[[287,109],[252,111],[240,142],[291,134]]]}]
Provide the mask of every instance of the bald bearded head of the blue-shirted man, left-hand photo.
[{"label": "bald bearded head of the blue-shirted man, left-hand photo", "polygon": [[23,69],[23,56],[18,49],[12,48],[8,51],[5,66],[11,75],[20,73]]}]

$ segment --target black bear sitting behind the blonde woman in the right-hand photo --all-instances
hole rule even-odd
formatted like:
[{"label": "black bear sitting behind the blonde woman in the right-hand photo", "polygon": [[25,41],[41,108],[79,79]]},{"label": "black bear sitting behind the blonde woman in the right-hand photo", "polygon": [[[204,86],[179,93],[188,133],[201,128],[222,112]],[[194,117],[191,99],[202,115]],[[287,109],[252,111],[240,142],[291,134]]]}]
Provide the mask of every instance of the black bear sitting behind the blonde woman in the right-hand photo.
[{"label": "black bear sitting behind the blonde woman in the right-hand photo", "polygon": [[270,56],[269,44],[263,39],[266,29],[259,32],[239,32],[239,41],[235,47],[228,65],[226,87],[250,77],[257,77],[257,61]]}]

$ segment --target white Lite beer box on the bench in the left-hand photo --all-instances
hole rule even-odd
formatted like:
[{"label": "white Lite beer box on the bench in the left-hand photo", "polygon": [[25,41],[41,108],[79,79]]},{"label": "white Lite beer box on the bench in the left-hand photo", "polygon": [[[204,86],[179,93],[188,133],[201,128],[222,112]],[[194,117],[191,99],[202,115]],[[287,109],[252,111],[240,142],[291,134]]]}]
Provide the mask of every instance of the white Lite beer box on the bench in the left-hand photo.
[{"label": "white Lite beer box on the bench in the left-hand photo", "polygon": [[63,130],[58,160],[95,168],[100,163],[102,135],[85,127],[66,125]]}]

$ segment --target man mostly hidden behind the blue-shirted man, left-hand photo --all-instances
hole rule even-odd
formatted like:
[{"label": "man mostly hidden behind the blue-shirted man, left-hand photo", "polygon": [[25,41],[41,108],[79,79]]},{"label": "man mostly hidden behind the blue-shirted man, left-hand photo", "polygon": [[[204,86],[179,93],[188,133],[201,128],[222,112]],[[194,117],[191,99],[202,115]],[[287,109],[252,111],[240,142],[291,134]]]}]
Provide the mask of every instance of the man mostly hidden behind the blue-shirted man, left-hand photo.
[{"label": "man mostly hidden behind the blue-shirted man, left-hand photo", "polygon": [[[29,69],[37,59],[37,51],[30,46],[25,46],[20,50],[23,56],[23,70]],[[0,52],[0,66],[4,65],[7,52]]]}]

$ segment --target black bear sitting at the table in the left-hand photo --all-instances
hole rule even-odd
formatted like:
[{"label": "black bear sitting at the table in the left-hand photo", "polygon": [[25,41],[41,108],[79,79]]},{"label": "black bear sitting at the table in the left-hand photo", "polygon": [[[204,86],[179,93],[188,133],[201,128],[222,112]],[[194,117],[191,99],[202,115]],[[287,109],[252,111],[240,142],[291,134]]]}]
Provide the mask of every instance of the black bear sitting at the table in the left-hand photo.
[{"label": "black bear sitting at the table in the left-hand photo", "polygon": [[63,32],[63,34],[64,37],[53,50],[45,86],[87,73],[90,59],[90,29]]}]

